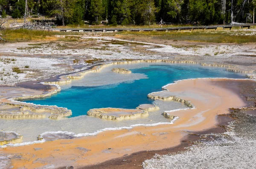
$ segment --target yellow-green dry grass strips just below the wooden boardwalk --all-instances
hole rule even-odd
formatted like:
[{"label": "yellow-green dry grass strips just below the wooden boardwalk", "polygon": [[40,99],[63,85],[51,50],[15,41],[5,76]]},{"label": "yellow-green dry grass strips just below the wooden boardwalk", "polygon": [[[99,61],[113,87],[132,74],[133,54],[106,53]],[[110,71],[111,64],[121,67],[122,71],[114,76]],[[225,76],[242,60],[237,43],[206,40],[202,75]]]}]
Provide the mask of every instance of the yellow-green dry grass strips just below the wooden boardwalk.
[{"label": "yellow-green dry grass strips just below the wooden boardwalk", "polygon": [[[235,28],[234,28],[235,29]],[[25,41],[64,41],[79,42],[80,36],[84,33],[79,32],[55,32],[55,31],[31,31],[25,29],[2,30],[1,37],[6,42],[25,42]],[[63,35],[63,36],[58,36]],[[72,35],[72,36],[71,36]],[[77,35],[77,36],[74,36]],[[92,34],[94,35],[94,34]],[[166,39],[173,41],[197,41],[197,42],[215,42],[215,43],[248,43],[256,42],[256,35],[252,31],[240,33],[233,31],[151,31],[151,32],[119,32],[105,33],[102,36],[122,35],[126,37],[150,37],[151,39]],[[1,43],[1,42],[0,42]],[[2,41],[4,43],[4,41]],[[113,42],[115,45],[125,45],[125,42]],[[140,45],[138,43],[134,45]],[[35,45],[33,45],[35,46]],[[40,45],[38,45],[40,46]],[[35,47],[33,47],[35,48]]]}]

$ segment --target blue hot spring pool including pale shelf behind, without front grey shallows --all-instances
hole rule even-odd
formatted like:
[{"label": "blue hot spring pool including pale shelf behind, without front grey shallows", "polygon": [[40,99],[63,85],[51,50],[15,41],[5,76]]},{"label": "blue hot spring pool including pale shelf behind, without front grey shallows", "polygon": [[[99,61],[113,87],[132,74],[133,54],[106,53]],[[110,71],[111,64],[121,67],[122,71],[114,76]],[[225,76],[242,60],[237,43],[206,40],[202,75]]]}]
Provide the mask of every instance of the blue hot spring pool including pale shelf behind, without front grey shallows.
[{"label": "blue hot spring pool including pale shelf behind, without front grey shallows", "polygon": [[[118,74],[112,68],[126,68],[132,74]],[[151,104],[147,94],[160,91],[161,87],[181,79],[225,77],[241,79],[242,74],[224,68],[204,67],[189,64],[135,63],[111,65],[100,73],[89,73],[84,79],[62,85],[61,92],[54,96],[26,100],[41,105],[57,105],[72,110],[72,117],[86,115],[92,108],[136,108],[139,104]]]}]

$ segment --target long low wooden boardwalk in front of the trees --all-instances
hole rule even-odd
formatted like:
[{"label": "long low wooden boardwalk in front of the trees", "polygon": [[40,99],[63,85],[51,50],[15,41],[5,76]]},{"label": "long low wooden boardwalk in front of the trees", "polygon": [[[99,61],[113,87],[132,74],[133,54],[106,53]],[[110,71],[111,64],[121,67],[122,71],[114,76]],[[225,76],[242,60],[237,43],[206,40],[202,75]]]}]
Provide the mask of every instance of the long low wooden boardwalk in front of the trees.
[{"label": "long low wooden boardwalk in front of the trees", "polygon": [[230,29],[233,27],[240,27],[250,29],[251,26],[256,24],[242,24],[242,25],[211,25],[211,26],[184,26],[184,27],[170,27],[170,28],[53,28],[53,31],[61,32],[121,32],[121,31],[180,31],[195,29],[208,30],[208,29]]}]

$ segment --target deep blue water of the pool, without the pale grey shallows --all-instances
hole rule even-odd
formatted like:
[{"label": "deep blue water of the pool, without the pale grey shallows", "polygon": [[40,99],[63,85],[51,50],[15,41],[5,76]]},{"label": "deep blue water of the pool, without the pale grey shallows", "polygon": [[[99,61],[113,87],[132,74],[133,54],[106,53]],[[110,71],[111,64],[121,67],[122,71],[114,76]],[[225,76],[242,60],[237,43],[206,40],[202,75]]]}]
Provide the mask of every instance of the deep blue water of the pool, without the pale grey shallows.
[{"label": "deep blue water of the pool, without the pale grey shallows", "polygon": [[221,68],[200,65],[150,65],[131,71],[133,73],[144,73],[148,76],[148,79],[100,87],[72,86],[51,97],[26,102],[67,107],[72,110],[72,117],[74,117],[86,115],[87,111],[92,108],[136,108],[139,104],[150,104],[152,100],[147,98],[148,93],[160,91],[162,86],[181,79],[204,77],[245,78],[244,75],[231,73]]}]

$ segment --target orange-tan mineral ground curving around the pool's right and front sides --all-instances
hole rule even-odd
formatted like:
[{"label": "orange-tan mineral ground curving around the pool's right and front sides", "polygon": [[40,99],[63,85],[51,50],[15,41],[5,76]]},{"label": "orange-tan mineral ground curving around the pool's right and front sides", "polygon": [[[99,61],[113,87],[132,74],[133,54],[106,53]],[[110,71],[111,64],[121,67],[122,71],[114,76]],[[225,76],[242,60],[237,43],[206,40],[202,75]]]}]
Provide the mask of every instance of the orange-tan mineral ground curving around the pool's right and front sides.
[{"label": "orange-tan mineral ground curving around the pool's right and front sides", "polygon": [[[9,160],[14,168],[43,168],[47,165],[86,166],[133,152],[176,146],[189,131],[201,131],[215,126],[217,122],[213,119],[218,114],[228,113],[228,108],[246,106],[241,96],[228,90],[227,85],[215,85],[217,81],[220,79],[195,79],[169,85],[169,91],[195,105],[195,109],[172,112],[180,117],[173,125],[134,127],[72,140],[8,147],[0,150],[0,154],[18,155],[19,158]],[[234,82],[245,80],[221,81],[229,87],[237,88]],[[41,149],[35,151],[35,148]]]}]

